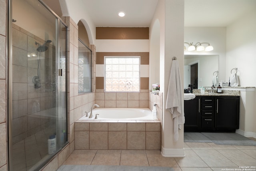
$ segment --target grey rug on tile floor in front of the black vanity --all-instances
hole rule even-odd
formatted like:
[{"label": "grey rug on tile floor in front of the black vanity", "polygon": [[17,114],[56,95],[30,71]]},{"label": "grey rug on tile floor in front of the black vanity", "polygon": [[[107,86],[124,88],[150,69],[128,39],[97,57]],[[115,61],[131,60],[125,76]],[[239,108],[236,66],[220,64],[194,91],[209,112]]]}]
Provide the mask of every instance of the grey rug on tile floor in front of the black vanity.
[{"label": "grey rug on tile floor in front of the black vanity", "polygon": [[215,143],[217,145],[252,145],[256,141],[238,133],[184,132],[184,142]]}]

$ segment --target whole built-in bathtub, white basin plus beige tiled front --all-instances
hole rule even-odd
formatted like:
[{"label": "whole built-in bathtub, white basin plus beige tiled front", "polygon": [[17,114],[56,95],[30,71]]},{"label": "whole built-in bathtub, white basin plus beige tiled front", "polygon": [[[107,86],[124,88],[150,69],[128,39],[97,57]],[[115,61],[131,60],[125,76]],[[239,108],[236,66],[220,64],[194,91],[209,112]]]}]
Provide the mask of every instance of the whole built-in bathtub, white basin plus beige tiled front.
[{"label": "whole built-in bathtub, white basin plus beige tiled front", "polygon": [[150,109],[98,107],[92,114],[75,121],[75,149],[161,149],[161,122]]}]

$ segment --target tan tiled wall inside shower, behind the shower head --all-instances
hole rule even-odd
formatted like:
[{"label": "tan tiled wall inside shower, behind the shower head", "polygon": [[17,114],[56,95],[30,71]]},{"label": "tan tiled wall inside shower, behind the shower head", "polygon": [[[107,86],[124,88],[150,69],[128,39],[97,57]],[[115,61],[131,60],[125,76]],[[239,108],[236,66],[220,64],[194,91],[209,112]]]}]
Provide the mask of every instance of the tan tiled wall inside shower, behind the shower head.
[{"label": "tan tiled wall inside shower, behind the shower head", "polygon": [[[37,53],[35,42],[45,41],[15,24],[12,24],[12,42],[12,142],[16,143],[46,128],[49,134],[54,133],[55,119],[44,116],[55,115],[55,110],[50,109],[56,105],[56,65],[55,47],[48,44],[48,50]],[[40,88],[32,82],[38,74],[38,57],[32,55],[41,58]]]}]

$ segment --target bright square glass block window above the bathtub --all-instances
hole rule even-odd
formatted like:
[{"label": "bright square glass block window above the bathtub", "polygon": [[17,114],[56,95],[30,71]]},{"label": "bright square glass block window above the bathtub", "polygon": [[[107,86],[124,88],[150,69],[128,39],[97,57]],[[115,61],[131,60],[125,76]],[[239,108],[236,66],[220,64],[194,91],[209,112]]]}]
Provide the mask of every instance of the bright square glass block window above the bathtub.
[{"label": "bright square glass block window above the bathtub", "polygon": [[105,91],[139,92],[140,57],[105,56]]}]

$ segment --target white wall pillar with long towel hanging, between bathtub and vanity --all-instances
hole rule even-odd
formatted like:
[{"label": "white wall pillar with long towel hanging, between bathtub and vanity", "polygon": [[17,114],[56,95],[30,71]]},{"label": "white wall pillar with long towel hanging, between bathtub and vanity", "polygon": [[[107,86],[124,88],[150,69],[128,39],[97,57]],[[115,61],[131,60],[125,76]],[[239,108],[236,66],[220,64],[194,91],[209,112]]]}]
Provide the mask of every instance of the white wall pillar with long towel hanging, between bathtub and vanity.
[{"label": "white wall pillar with long towel hanging, between bathtub and vanity", "polygon": [[159,0],[152,24],[156,20],[160,22],[160,91],[163,92],[161,153],[166,157],[184,157],[183,127],[182,130],[179,130],[178,141],[174,141],[172,115],[165,109],[172,57],[174,56],[179,62],[181,80],[183,82],[184,0]]}]

